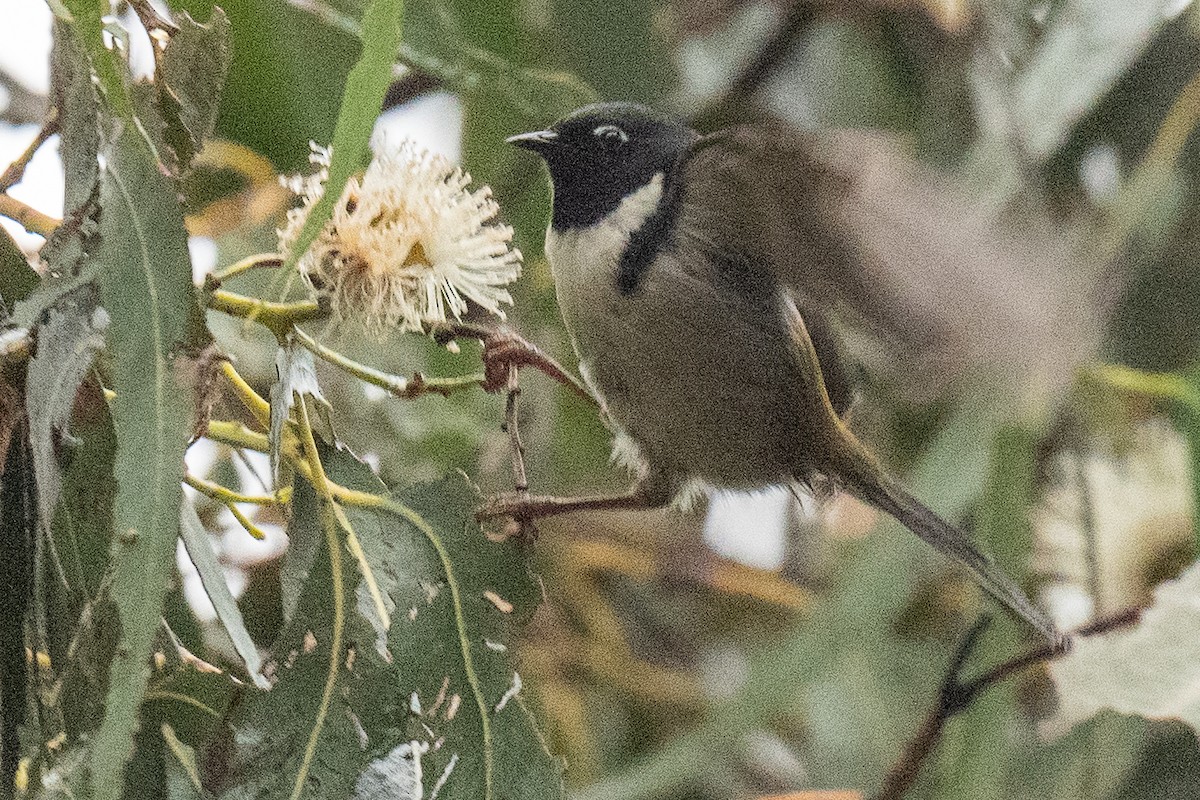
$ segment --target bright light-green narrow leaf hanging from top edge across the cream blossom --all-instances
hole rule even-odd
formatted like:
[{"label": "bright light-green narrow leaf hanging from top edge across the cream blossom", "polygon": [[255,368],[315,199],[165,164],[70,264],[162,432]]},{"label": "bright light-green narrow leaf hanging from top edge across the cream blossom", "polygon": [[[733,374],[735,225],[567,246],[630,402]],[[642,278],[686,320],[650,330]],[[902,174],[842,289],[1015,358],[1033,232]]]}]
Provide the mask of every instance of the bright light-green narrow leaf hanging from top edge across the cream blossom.
[{"label": "bright light-green narrow leaf hanging from top edge across the cream blossom", "polygon": [[362,16],[362,55],[346,80],[342,108],[334,127],[332,158],[325,193],[313,205],[288,255],[284,271],[296,261],[329,222],[346,182],[360,169],[367,155],[371,132],[391,85],[403,28],[403,0],[372,0]]}]

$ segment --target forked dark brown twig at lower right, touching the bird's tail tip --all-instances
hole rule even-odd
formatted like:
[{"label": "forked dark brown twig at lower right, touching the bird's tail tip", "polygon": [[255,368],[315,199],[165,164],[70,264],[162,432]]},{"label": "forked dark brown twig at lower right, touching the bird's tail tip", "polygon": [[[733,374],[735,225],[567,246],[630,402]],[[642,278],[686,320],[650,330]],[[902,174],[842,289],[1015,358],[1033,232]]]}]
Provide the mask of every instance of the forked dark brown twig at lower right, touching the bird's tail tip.
[{"label": "forked dark brown twig at lower right, touching the bird's tail tip", "polygon": [[[1140,618],[1140,608],[1128,608],[1123,612],[1097,619],[1093,622],[1085,625],[1084,627],[1076,630],[1072,637],[1087,637],[1108,633],[1110,631],[1128,627],[1136,622]],[[922,765],[937,747],[937,742],[941,740],[942,733],[946,730],[946,723],[949,722],[950,717],[967,710],[976,698],[978,698],[985,690],[1008,678],[1012,678],[1027,667],[1057,658],[1066,655],[1070,650],[1072,637],[1067,637],[1063,639],[1063,644],[1042,645],[1016,656],[1015,658],[1010,658],[1002,664],[992,667],[974,680],[964,682],[960,679],[962,667],[967,658],[970,658],[971,652],[974,650],[974,646],[979,640],[979,636],[983,633],[989,622],[989,618],[980,618],[971,631],[967,632],[966,637],[964,637],[962,644],[959,645],[958,651],[954,654],[954,658],[950,661],[946,678],[942,680],[937,705],[935,705],[934,709],[925,716],[920,727],[917,728],[917,733],[913,734],[912,739],[910,739],[908,744],[905,746],[900,758],[895,764],[893,764],[892,769],[888,770],[887,777],[883,781],[883,787],[876,795],[876,800],[900,800],[900,798],[902,798],[908,789],[912,788],[917,776],[920,774]]]}]

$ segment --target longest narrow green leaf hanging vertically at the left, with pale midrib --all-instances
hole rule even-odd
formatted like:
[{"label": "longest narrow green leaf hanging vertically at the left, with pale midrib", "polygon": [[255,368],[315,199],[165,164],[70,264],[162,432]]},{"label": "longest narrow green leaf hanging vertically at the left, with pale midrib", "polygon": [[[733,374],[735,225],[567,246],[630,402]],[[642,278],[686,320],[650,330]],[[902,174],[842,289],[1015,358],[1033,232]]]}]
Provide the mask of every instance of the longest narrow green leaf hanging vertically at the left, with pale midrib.
[{"label": "longest narrow green leaf hanging vertically at the left, with pale midrib", "polygon": [[120,126],[106,161],[97,260],[104,308],[112,317],[116,391],[110,593],[121,639],[109,669],[104,721],[94,739],[92,769],[96,798],[115,800],[175,565],[192,398],[173,362],[199,309],[179,200],[149,145],[132,126]]}]

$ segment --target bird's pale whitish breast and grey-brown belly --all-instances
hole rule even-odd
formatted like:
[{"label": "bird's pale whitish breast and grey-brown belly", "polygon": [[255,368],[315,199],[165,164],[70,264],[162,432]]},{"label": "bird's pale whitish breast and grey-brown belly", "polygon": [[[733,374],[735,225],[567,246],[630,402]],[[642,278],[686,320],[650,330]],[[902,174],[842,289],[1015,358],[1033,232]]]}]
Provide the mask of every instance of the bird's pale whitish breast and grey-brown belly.
[{"label": "bird's pale whitish breast and grey-brown belly", "polygon": [[[643,218],[654,188],[643,187]],[[722,291],[703,254],[679,241],[665,243],[638,285],[622,291],[617,276],[636,218],[614,212],[546,237],[584,378],[656,468],[720,486],[780,479],[797,422],[778,313]]]}]

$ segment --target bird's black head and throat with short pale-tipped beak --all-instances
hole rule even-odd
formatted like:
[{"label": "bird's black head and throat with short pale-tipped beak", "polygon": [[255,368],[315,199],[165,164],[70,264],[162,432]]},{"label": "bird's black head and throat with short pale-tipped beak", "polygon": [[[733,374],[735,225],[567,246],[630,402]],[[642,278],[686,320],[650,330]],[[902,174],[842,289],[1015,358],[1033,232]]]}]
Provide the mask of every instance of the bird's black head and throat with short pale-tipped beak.
[{"label": "bird's black head and throat with short pale-tipped beak", "polygon": [[546,161],[557,230],[594,224],[679,160],[698,134],[635,103],[596,103],[509,143]]}]

